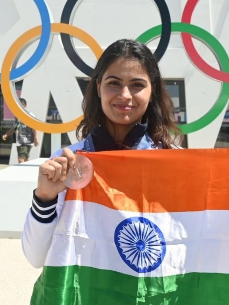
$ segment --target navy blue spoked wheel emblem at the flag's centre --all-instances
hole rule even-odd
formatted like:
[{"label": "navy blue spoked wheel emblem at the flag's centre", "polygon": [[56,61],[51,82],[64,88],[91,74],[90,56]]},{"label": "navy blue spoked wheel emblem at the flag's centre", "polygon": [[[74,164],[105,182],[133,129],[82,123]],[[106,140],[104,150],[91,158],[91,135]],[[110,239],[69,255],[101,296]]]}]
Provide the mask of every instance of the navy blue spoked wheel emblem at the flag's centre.
[{"label": "navy blue spoked wheel emblem at the flag's centre", "polygon": [[115,245],[123,261],[138,273],[158,268],[166,253],[166,242],[159,227],[144,217],[123,220],[115,229]]}]

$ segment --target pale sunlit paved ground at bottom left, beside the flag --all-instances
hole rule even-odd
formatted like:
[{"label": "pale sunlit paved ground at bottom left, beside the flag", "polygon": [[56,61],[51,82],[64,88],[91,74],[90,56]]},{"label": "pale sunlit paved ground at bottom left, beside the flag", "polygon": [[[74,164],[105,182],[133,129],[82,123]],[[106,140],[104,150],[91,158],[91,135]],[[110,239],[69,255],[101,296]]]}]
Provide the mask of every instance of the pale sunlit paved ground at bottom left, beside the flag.
[{"label": "pale sunlit paved ground at bottom left, beside the flag", "polygon": [[20,239],[0,239],[0,305],[29,305],[41,271],[25,259]]}]

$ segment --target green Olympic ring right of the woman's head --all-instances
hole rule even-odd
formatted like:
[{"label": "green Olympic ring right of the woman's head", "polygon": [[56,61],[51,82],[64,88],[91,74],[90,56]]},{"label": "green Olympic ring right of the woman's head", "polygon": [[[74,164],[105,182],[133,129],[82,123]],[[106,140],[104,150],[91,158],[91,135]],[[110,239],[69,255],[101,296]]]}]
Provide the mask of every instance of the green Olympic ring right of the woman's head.
[{"label": "green Olympic ring right of the woman's head", "polygon": [[[162,26],[157,25],[145,31],[141,34],[136,40],[142,43],[148,43],[155,38],[161,35]],[[214,52],[215,56],[217,56],[220,67],[223,71],[229,72],[229,57],[222,46],[222,44],[209,32],[204,30],[203,28],[183,22],[172,22],[172,30],[171,32],[184,32],[192,34],[193,37],[199,39],[204,42],[205,45],[209,46],[210,49]],[[220,95],[215,103],[215,105],[200,119],[187,123],[184,125],[180,125],[179,127],[183,131],[183,133],[190,134],[196,132],[210,123],[212,123],[224,110],[228,103],[229,98],[229,83],[223,82],[221,86]]]}]

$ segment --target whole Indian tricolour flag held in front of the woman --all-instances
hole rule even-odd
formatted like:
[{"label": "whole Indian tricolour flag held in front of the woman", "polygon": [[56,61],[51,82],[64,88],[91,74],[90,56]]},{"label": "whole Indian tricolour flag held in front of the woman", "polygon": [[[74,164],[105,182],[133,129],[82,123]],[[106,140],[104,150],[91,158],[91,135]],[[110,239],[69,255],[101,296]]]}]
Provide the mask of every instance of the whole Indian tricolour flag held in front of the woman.
[{"label": "whole Indian tricolour flag held in front of the woman", "polygon": [[82,154],[31,304],[229,304],[229,150]]}]

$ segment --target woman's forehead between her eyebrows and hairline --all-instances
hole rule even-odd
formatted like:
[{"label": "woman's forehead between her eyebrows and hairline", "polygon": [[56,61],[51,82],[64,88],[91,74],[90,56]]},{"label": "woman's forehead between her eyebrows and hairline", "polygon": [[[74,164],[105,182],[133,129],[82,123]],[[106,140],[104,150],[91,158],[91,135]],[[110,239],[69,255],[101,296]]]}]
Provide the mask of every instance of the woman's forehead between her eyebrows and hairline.
[{"label": "woman's forehead between her eyebrows and hairline", "polygon": [[145,77],[149,77],[145,66],[139,60],[131,58],[119,58],[115,60],[104,72],[104,75],[108,74],[125,74],[126,76],[144,75]]}]

